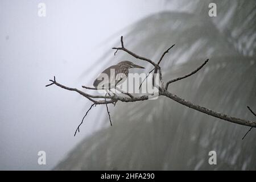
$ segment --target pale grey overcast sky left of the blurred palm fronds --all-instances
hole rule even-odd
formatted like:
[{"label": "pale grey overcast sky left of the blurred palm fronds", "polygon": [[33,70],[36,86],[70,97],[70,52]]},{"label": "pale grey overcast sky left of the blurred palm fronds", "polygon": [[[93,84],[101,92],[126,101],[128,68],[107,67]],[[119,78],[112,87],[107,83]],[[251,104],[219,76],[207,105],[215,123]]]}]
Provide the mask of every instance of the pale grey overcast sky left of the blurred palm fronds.
[{"label": "pale grey overcast sky left of the blurred palm fronds", "polygon": [[[38,16],[40,2],[46,17]],[[48,79],[90,85],[92,78],[81,75],[111,51],[123,28],[166,8],[164,1],[0,1],[0,169],[51,169],[100,129],[97,107],[73,137],[89,102],[46,88]],[[46,165],[38,165],[40,150]]]}]

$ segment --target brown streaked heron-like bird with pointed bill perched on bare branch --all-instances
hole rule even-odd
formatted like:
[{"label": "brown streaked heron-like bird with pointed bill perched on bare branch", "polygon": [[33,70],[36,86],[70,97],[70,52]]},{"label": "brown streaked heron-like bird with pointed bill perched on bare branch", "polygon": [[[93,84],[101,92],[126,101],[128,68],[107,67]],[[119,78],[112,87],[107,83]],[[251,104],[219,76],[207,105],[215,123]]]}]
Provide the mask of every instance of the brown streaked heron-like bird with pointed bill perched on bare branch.
[{"label": "brown streaked heron-like bird with pointed bill perched on bare branch", "polygon": [[131,61],[121,61],[118,64],[106,68],[93,82],[96,89],[112,89],[126,80],[130,68],[144,68]]}]

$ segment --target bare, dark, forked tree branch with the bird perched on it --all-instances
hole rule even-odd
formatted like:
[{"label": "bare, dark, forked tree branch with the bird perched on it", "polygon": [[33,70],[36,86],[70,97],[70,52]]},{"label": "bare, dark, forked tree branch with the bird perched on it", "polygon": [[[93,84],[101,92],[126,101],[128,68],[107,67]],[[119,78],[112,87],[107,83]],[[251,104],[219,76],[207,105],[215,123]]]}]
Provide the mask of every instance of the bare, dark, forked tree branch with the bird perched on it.
[{"label": "bare, dark, forked tree branch with the bird perched on it", "polygon": [[[174,45],[172,46],[174,47]],[[144,61],[147,61],[148,63],[154,65],[154,69],[152,69],[150,71],[150,73],[154,70],[154,73],[157,73],[159,71],[159,79],[160,81],[162,82],[162,85],[159,86],[159,96],[166,96],[168,98],[171,98],[172,100],[178,102],[179,104],[182,104],[184,106],[187,106],[187,107],[190,107],[194,110],[197,110],[197,111],[200,111],[201,113],[205,113],[205,114],[208,114],[208,115],[211,115],[213,117],[216,117],[216,118],[219,118],[219,119],[222,119],[222,120],[225,120],[225,121],[229,121],[229,122],[232,122],[232,123],[236,123],[236,124],[239,124],[239,125],[245,125],[245,126],[250,126],[250,127],[256,127],[256,122],[255,121],[248,121],[246,119],[240,119],[240,118],[236,118],[236,117],[231,117],[230,115],[227,115],[227,114],[222,114],[222,113],[218,113],[216,111],[213,111],[213,110],[210,110],[210,109],[207,109],[206,107],[203,107],[203,106],[200,106],[200,105],[196,105],[196,104],[193,104],[192,102],[189,102],[189,101],[186,101],[184,100],[183,98],[180,98],[180,97],[177,97],[175,94],[171,93],[171,92],[168,92],[168,85],[171,84],[172,82],[175,82],[175,81],[178,81],[178,80],[182,80],[184,78],[187,78],[193,74],[195,74],[197,71],[199,71],[201,68],[204,67],[205,64],[207,64],[208,60],[207,59],[202,65],[200,65],[199,68],[197,68],[195,71],[185,75],[185,76],[182,76],[182,77],[178,77],[178,78],[175,78],[173,80],[170,80],[167,82],[166,86],[164,86],[163,84],[163,78],[162,78],[162,71],[161,71],[161,68],[159,66],[160,62],[163,60],[163,57],[164,55],[166,55],[166,53],[168,53],[168,51],[172,48],[168,48],[167,51],[165,51],[163,53],[163,55],[160,57],[158,63],[154,63],[154,61],[150,60],[150,59],[147,59],[145,57],[142,57],[142,56],[138,56],[137,54],[129,51],[128,49],[126,49],[124,46],[123,46],[123,37],[121,36],[121,47],[118,47],[118,48],[113,48],[113,49],[116,49],[116,52],[118,50],[122,50],[122,51],[125,51],[127,53],[129,53],[131,56],[134,56],[135,58],[137,59],[141,59],[141,60],[144,60]],[[115,52],[115,53],[116,53]],[[147,77],[146,77],[147,78]],[[146,79],[145,78],[145,79]],[[144,80],[145,80],[144,79]],[[143,80],[143,81],[144,81]],[[55,77],[54,77],[54,80],[49,80],[51,81],[50,84],[46,85],[46,86],[51,86],[51,85],[56,85],[56,86],[59,86],[60,88],[63,88],[63,89],[66,89],[66,90],[71,90],[71,91],[75,91],[79,94],[81,94],[81,96],[84,96],[85,98],[87,98],[88,100],[92,101],[94,104],[93,105],[98,105],[98,104],[105,104],[106,105],[106,108],[107,108],[107,111],[108,111],[108,115],[109,115],[109,120],[110,120],[110,125],[112,125],[112,121],[110,119],[110,113],[109,113],[109,110],[108,110],[108,104],[114,104],[117,102],[117,101],[121,101],[121,102],[136,102],[136,101],[144,101],[144,100],[148,100],[148,97],[149,96],[152,96],[154,95],[151,94],[151,95],[143,95],[143,96],[139,96],[139,97],[134,97],[133,95],[131,95],[130,93],[124,93],[124,92],[121,92],[123,94],[126,94],[127,96],[129,97],[122,97],[122,96],[117,96],[117,95],[113,95],[113,96],[94,96],[92,94],[88,94],[88,93],[85,93],[85,92],[82,92],[81,90],[79,89],[76,89],[76,88],[70,88],[68,86],[64,86],[64,85],[61,85],[59,84],[59,82],[56,81]],[[82,86],[82,88],[85,88],[85,89],[92,89],[92,90],[97,90],[96,88],[90,88],[88,86]],[[140,85],[140,88],[141,88],[141,85]],[[104,100],[96,100],[98,98],[104,98]],[[106,100],[106,99],[109,99],[109,100]],[[92,106],[93,106],[92,105]],[[92,106],[90,107],[90,109],[92,109]],[[89,109],[89,110],[90,110]],[[253,113],[255,115],[255,113],[250,109],[250,107],[248,106],[248,109],[251,111],[251,113]],[[89,111],[88,110],[88,111]],[[88,113],[88,111],[86,112],[86,114]],[[85,116],[86,116],[85,114]],[[85,117],[84,116],[84,117]],[[82,119],[82,121],[84,120],[84,118]],[[82,122],[81,122],[82,123]],[[81,125],[81,124],[80,124]],[[79,125],[79,126],[80,126]],[[250,129],[251,130],[251,129]],[[76,131],[79,131],[79,127],[77,127],[77,130]],[[249,132],[249,131],[248,131]],[[247,133],[248,133],[247,132]],[[246,134],[247,134],[246,133]],[[243,137],[244,138],[244,137]]]}]

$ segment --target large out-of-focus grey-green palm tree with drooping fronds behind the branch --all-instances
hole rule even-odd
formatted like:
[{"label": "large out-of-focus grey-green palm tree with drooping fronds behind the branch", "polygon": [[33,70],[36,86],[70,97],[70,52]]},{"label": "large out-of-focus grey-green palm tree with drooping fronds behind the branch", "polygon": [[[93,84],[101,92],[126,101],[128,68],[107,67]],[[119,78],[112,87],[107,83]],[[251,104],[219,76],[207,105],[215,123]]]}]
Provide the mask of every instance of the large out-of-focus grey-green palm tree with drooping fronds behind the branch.
[{"label": "large out-of-focus grey-green palm tree with drooping fronds behind the branch", "polygon": [[[189,13],[166,11],[133,24],[125,44],[153,60],[176,44],[161,63],[164,78],[191,72],[209,58],[199,73],[172,84],[171,92],[209,109],[255,119],[246,108],[256,108],[255,2],[214,1],[221,7],[214,18],[208,16],[210,1],[189,2],[179,2]],[[122,59],[133,60],[119,52],[113,63]],[[55,169],[255,169],[256,132],[242,140],[248,127],[164,97],[111,109],[113,127],[85,138]],[[209,165],[209,151],[217,152],[217,165]]]}]

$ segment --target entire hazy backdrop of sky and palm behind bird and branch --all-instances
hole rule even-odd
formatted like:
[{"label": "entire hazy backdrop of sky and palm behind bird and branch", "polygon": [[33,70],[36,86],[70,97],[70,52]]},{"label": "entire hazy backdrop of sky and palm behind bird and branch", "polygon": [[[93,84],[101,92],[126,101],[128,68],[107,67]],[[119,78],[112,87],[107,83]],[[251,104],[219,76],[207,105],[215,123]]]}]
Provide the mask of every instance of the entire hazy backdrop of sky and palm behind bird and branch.
[{"label": "entire hazy backdrop of sky and palm behind bird and branch", "polygon": [[[38,16],[45,3],[46,16]],[[217,5],[210,17],[209,3]],[[164,80],[195,104],[250,119],[256,110],[255,1],[0,1],[0,169],[2,170],[255,170],[256,131],[221,121],[168,98],[93,107],[49,84],[80,88],[109,65],[128,59],[125,46],[162,61]],[[46,165],[38,152],[46,151]],[[217,164],[209,165],[209,151]]]}]

